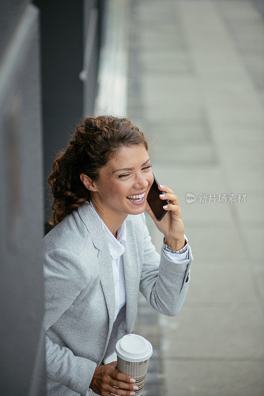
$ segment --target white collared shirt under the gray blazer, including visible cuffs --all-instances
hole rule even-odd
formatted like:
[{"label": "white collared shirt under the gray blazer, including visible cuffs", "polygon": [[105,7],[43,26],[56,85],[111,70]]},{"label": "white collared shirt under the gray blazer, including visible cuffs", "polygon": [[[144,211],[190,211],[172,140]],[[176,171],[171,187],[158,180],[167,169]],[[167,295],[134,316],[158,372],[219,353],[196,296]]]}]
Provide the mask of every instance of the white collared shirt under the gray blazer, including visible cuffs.
[{"label": "white collared shirt under the gray blazer, including visible cuffs", "polygon": [[[97,216],[101,220],[103,230],[106,234],[106,239],[108,242],[110,254],[112,257],[112,270],[113,270],[113,279],[114,279],[114,293],[115,293],[115,311],[114,311],[114,321],[118,315],[118,312],[122,308],[122,306],[126,303],[126,289],[125,289],[125,276],[124,276],[124,266],[123,266],[123,253],[125,251],[126,246],[126,223],[125,221],[117,230],[117,238],[113,236],[111,231],[106,227],[106,224],[101,219],[95,207],[90,200],[90,204]],[[185,235],[184,235],[185,237]],[[175,263],[182,263],[187,259],[188,250],[186,252],[176,254],[166,251],[162,247],[165,256]],[[104,359],[104,364],[110,363],[116,360],[116,353],[112,353],[106,359]]]}]

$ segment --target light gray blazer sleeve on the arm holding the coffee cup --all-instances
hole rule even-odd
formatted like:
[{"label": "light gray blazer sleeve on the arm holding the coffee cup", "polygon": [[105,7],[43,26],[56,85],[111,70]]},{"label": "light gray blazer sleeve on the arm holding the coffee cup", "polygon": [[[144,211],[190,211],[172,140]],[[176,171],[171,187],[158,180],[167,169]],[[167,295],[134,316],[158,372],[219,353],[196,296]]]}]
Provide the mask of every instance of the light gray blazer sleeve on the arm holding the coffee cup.
[{"label": "light gray blazer sleeve on the arm holding the coffee cup", "polygon": [[[89,282],[78,254],[53,249],[44,255],[45,314],[43,325],[49,329],[70,307]],[[85,395],[97,363],[75,356],[67,347],[60,347],[46,336],[47,377]]]}]

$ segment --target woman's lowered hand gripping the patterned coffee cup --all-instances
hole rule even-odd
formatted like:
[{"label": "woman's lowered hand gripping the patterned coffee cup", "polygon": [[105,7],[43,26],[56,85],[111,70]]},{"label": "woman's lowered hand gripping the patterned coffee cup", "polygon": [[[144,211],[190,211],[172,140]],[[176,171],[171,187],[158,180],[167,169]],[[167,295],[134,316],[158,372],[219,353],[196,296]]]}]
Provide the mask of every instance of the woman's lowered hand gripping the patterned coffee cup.
[{"label": "woman's lowered hand gripping the patterned coffee cup", "polygon": [[[133,380],[131,383],[130,380]],[[90,388],[98,395],[135,395],[135,379],[117,371],[117,361],[96,367]],[[118,388],[118,389],[117,389]]]}]

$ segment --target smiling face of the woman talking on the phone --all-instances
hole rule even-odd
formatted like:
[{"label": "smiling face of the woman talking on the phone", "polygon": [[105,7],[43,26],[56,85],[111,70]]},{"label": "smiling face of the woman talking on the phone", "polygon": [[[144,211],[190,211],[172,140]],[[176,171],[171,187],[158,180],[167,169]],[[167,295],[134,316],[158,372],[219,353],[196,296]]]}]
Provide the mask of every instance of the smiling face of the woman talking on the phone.
[{"label": "smiling face of the woman talking on the phone", "polygon": [[[131,168],[131,169],[123,169]],[[124,221],[127,214],[140,214],[153,184],[148,151],[142,145],[122,146],[115,158],[100,169],[100,178],[89,188],[95,208],[102,218]],[[84,183],[84,181],[83,181]],[[144,197],[133,198],[144,194]],[[131,197],[130,199],[127,197]],[[101,213],[100,213],[101,212]],[[103,218],[104,220],[104,218]],[[105,220],[104,220],[105,221]]]}]

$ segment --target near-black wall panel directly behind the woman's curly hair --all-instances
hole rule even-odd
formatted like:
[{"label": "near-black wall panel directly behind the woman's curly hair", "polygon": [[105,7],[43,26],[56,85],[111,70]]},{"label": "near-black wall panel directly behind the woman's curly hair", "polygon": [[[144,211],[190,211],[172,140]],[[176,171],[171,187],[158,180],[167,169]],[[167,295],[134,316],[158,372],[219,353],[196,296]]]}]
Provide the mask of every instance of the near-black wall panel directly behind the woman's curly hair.
[{"label": "near-black wall panel directly behind the woman's curly hair", "polygon": [[41,16],[45,219],[51,211],[48,176],[55,153],[83,115],[83,1],[36,0]]}]

